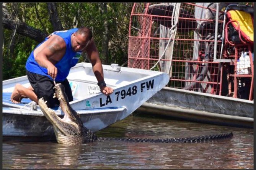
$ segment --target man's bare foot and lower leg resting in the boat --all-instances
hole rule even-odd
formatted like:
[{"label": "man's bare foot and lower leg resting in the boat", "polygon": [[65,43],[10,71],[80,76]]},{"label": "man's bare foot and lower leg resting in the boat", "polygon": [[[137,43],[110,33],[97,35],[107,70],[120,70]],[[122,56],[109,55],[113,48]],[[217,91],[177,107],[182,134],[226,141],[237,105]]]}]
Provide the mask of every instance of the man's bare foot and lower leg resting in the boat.
[{"label": "man's bare foot and lower leg resting in the boat", "polygon": [[32,101],[38,103],[38,98],[33,91],[33,87],[29,86],[28,88],[26,88],[18,83],[15,85],[13,93],[11,94],[11,102],[20,103],[21,99],[23,98],[29,98]]}]

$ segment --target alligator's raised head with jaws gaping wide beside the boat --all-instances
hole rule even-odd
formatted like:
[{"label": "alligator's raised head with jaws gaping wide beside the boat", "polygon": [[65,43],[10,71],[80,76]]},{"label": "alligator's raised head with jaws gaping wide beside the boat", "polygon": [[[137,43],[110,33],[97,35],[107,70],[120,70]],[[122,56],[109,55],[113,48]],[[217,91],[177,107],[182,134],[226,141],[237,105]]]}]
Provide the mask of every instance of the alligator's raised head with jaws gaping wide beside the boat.
[{"label": "alligator's raised head with jaws gaping wide beside the boat", "polygon": [[65,94],[64,86],[58,83],[54,88],[54,97],[60,102],[60,107],[64,112],[64,118],[61,119],[56,115],[54,110],[47,107],[44,99],[40,98],[38,104],[43,114],[52,123],[58,143],[77,144],[95,140],[96,136],[83,126],[83,122],[79,115],[68,103],[68,97]]}]

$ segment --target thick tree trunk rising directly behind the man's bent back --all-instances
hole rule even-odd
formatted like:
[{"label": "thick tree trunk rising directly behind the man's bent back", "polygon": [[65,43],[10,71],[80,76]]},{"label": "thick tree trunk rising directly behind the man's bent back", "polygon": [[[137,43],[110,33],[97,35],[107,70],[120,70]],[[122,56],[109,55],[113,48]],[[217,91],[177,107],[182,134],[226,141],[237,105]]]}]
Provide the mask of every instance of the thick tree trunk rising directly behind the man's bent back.
[{"label": "thick tree trunk rising directly behind the man's bent back", "polygon": [[62,24],[61,24],[59,16],[58,16],[56,3],[47,2],[47,7],[48,7],[48,13],[50,16],[50,21],[53,26],[53,30],[54,31],[63,30]]}]

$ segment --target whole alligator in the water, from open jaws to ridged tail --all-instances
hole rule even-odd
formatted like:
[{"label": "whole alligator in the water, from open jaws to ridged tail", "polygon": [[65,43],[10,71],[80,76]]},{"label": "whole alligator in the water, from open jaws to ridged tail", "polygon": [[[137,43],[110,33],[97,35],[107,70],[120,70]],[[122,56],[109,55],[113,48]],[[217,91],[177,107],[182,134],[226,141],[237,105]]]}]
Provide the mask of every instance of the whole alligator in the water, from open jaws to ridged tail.
[{"label": "whole alligator in the water, from open jaws to ridged tail", "polygon": [[142,139],[142,138],[101,138],[83,125],[80,116],[72,109],[65,94],[64,86],[60,83],[55,85],[54,97],[60,102],[60,107],[64,112],[64,117],[61,119],[56,115],[54,110],[47,107],[43,98],[40,98],[38,104],[45,117],[51,122],[56,140],[62,144],[83,144],[93,141],[119,140],[130,142],[150,142],[150,143],[198,143],[211,141],[216,139],[231,138],[233,133],[222,133],[218,135],[196,136],[190,138],[167,138],[167,139]]}]

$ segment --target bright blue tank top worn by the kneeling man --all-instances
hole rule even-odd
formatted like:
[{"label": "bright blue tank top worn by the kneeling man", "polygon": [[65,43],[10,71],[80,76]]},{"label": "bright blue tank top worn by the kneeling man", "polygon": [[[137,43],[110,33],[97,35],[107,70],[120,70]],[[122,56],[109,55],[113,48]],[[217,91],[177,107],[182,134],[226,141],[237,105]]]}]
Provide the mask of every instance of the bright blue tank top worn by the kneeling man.
[{"label": "bright blue tank top worn by the kneeling man", "polygon": [[[57,77],[55,81],[62,82],[64,81],[70,71],[70,68],[75,66],[78,62],[78,59],[80,58],[80,55],[82,51],[75,52],[72,49],[71,46],[71,35],[75,33],[78,30],[78,28],[70,29],[70,30],[64,30],[64,31],[55,31],[51,35],[59,35],[62,37],[66,43],[66,52],[65,55],[60,59],[59,62],[55,64],[55,67],[58,69]],[[43,42],[48,40],[51,35],[45,38]],[[41,42],[39,45],[41,45],[43,42]],[[39,45],[37,47],[39,47]],[[36,48],[37,48],[36,47]],[[47,69],[44,67],[41,67],[34,58],[34,50],[31,52],[27,62],[26,62],[26,69],[30,72],[46,75],[50,79],[52,79],[51,76],[47,74]]]}]

